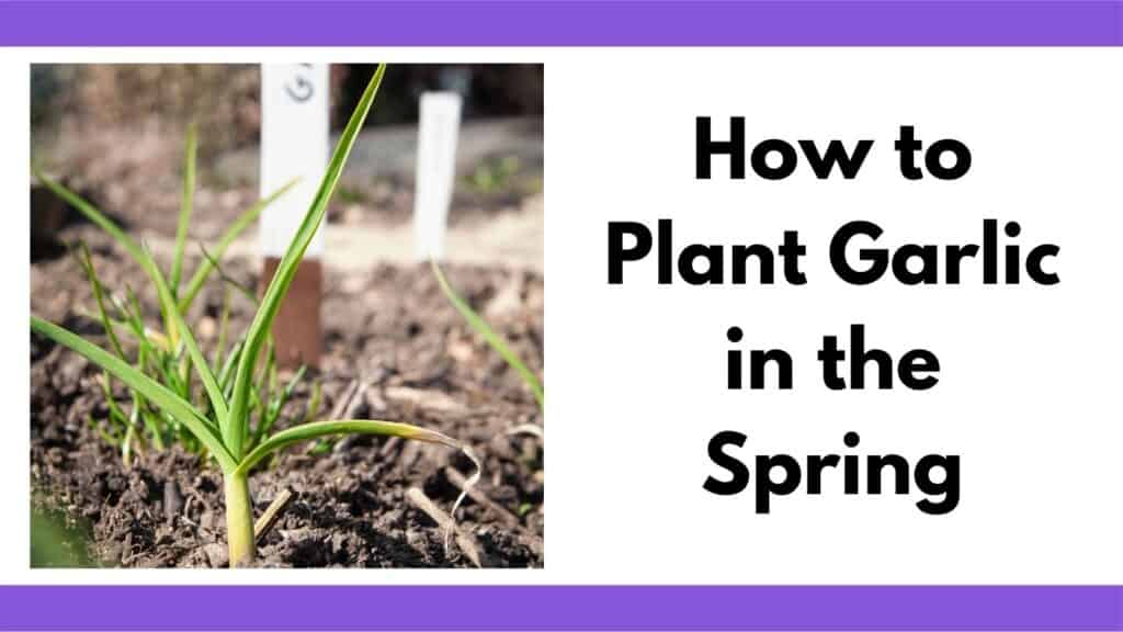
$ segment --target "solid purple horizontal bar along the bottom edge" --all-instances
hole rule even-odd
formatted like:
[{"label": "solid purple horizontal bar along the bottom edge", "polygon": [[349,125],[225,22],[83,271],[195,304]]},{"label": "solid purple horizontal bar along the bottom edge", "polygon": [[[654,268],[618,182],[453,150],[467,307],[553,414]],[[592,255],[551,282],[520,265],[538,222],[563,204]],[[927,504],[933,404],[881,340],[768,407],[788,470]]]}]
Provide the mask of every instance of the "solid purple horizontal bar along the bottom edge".
[{"label": "solid purple horizontal bar along the bottom edge", "polygon": [[1111,586],[7,586],[2,630],[1121,630]]}]

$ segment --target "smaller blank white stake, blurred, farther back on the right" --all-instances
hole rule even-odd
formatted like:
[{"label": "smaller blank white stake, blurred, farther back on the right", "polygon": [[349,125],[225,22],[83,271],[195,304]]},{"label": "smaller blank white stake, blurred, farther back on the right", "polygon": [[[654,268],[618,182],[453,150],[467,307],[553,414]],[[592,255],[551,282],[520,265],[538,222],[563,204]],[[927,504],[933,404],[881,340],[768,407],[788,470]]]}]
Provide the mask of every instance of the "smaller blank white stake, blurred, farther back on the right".
[{"label": "smaller blank white stake, blurred, farther back on the right", "polygon": [[445,258],[445,226],[456,177],[460,96],[456,92],[421,94],[420,118],[413,237],[418,259],[441,260]]}]

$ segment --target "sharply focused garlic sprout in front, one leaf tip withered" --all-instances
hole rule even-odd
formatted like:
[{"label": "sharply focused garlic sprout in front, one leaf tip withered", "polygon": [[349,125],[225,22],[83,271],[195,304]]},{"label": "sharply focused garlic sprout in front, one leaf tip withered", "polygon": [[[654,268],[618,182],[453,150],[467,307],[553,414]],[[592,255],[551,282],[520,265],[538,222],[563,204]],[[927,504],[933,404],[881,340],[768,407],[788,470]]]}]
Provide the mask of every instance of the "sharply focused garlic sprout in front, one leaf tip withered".
[{"label": "sharply focused garlic sprout in front, one leaf tip withered", "polygon": [[[304,215],[303,222],[293,236],[292,242],[289,244],[289,249],[282,258],[281,263],[277,265],[276,272],[261,300],[253,323],[246,331],[240,344],[237,345],[237,350],[227,356],[225,365],[217,374],[203,356],[202,351],[200,351],[194,333],[183,319],[186,307],[190,306],[190,298],[193,298],[194,294],[198,292],[195,279],[193,278],[189,283],[188,292],[183,297],[176,297],[172,286],[165,280],[163,272],[156,265],[148,251],[133,242],[111,223],[102,223],[102,228],[109,231],[111,234],[116,231],[115,236],[118,238],[118,242],[125,244],[130,254],[141,262],[141,267],[155,285],[165,316],[167,342],[172,349],[182,347],[186,352],[186,363],[194,369],[199,380],[202,382],[212,415],[209,415],[208,410],[202,406],[194,405],[190,394],[188,397],[184,397],[159,381],[146,376],[141,370],[138,370],[119,355],[107,352],[63,327],[31,316],[31,329],[34,332],[77,352],[112,377],[125,382],[139,397],[143,397],[146,401],[185,427],[218,462],[225,482],[227,543],[231,567],[252,562],[256,557],[253,504],[249,497],[248,484],[250,471],[263,459],[294,443],[316,441],[325,436],[340,434],[399,436],[408,440],[437,443],[459,450],[472,459],[476,466],[476,472],[469,479],[469,486],[480,477],[480,463],[471,449],[465,444],[439,432],[403,423],[373,419],[311,422],[262,436],[256,445],[254,445],[253,441],[249,416],[255,406],[261,406],[261,404],[255,404],[253,389],[255,368],[258,364],[258,359],[262,356],[262,351],[268,346],[267,342],[273,318],[276,316],[281,307],[281,300],[292,283],[293,277],[296,273],[296,267],[304,256],[304,251],[308,249],[312,236],[323,220],[328,201],[339,181],[339,175],[343,172],[358,132],[374,102],[384,73],[385,64],[382,64],[363,92],[362,99],[359,99],[339,143],[336,145],[335,153],[328,164],[327,173],[320,182],[316,198]],[[73,200],[71,201],[74,204]],[[185,206],[189,204],[185,201]],[[75,206],[79,205],[75,204]],[[86,215],[97,218],[100,214],[88,213]],[[204,262],[200,270],[204,270],[206,267],[207,263]],[[198,278],[199,274],[197,272],[195,277]],[[203,272],[203,278],[206,278],[206,274],[207,272]],[[201,287],[201,281],[198,286]],[[194,291],[192,291],[193,288]],[[109,328],[112,329],[113,326],[110,325]],[[143,336],[143,331],[140,335]],[[172,367],[172,369],[174,370],[175,367]],[[232,381],[232,386],[229,389],[225,386],[228,381]],[[455,515],[456,507],[463,500],[465,494],[462,493],[456,504],[454,504],[453,515]]]}]

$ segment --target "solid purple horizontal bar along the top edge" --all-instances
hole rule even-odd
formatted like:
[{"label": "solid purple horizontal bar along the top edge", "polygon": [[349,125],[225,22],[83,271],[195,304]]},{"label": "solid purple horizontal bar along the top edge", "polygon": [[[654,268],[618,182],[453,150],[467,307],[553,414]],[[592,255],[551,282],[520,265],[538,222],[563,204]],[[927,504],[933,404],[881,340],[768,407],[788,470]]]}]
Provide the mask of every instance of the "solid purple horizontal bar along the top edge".
[{"label": "solid purple horizontal bar along the top edge", "polygon": [[7,0],[6,46],[1115,46],[1120,0]]}]

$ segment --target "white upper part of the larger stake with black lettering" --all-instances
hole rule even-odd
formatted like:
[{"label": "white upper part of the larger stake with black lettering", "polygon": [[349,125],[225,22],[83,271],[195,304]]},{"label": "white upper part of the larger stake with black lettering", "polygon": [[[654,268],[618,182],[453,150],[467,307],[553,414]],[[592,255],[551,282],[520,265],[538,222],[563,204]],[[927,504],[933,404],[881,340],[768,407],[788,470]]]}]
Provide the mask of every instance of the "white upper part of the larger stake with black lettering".
[{"label": "white upper part of the larger stake with black lettering", "polygon": [[[301,178],[262,213],[266,258],[284,255],[328,166],[328,92],[326,64],[262,65],[262,197]],[[305,258],[322,253],[323,231],[318,231]]]}]

